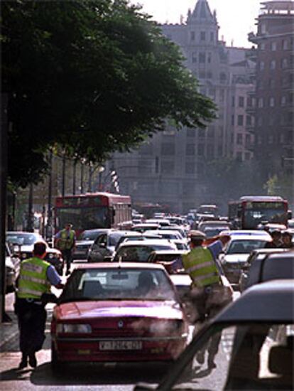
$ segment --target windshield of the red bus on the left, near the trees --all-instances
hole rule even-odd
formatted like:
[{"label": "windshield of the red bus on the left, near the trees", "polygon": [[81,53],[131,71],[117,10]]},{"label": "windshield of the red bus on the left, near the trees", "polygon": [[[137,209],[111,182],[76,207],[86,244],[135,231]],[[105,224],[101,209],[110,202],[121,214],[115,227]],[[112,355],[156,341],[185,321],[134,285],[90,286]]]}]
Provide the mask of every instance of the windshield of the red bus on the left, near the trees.
[{"label": "windshield of the red bus on the left, near the trees", "polygon": [[75,230],[107,228],[111,225],[107,206],[100,206],[99,208],[56,208],[56,220],[58,229],[62,229],[66,223],[71,223]]}]

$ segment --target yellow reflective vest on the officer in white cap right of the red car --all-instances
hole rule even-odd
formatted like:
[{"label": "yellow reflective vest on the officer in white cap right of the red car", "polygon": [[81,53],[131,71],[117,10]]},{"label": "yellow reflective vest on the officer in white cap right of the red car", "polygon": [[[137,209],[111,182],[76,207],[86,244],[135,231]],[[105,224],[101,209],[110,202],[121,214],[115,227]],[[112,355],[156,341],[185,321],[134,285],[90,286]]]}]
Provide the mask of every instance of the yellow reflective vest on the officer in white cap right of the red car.
[{"label": "yellow reflective vest on the officer in white cap right of the red car", "polygon": [[183,255],[185,272],[190,275],[193,286],[208,286],[221,282],[217,265],[208,248],[195,247]]}]

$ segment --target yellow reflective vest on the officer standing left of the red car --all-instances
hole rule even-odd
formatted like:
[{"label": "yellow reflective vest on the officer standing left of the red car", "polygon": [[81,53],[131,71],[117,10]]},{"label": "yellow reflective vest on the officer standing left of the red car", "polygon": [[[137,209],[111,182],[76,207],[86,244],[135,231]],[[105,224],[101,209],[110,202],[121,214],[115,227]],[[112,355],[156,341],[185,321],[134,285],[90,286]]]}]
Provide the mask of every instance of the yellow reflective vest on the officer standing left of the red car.
[{"label": "yellow reflective vest on the officer standing left of the red car", "polygon": [[21,262],[17,296],[20,299],[40,299],[43,293],[50,292],[47,269],[50,263],[33,257]]}]

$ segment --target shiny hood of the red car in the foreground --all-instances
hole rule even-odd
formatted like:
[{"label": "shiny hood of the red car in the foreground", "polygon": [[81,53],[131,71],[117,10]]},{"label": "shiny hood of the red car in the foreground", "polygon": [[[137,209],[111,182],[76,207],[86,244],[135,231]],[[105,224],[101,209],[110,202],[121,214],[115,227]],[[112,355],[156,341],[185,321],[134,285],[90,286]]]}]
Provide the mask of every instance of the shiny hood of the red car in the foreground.
[{"label": "shiny hood of the red car in the foreground", "polygon": [[56,306],[55,316],[59,321],[117,316],[182,319],[183,311],[175,301],[74,301]]}]

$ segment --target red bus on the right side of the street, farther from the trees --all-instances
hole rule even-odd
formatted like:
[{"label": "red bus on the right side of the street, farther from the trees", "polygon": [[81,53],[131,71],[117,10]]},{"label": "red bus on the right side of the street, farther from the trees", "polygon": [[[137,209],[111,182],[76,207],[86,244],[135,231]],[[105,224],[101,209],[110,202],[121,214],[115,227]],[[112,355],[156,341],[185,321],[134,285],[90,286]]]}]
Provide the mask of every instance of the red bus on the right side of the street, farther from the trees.
[{"label": "red bus on the right side of the street, farther from the trees", "polygon": [[244,196],[229,203],[229,220],[241,230],[256,230],[265,223],[288,226],[288,201],[279,196]]}]

